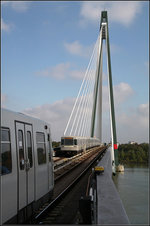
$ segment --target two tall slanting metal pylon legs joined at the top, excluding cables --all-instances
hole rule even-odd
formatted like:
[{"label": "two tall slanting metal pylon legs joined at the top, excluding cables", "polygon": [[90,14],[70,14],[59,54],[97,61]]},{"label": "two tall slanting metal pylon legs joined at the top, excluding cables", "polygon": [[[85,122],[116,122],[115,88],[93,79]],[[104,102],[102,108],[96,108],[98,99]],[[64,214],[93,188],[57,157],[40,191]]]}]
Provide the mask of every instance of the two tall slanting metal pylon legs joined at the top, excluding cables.
[{"label": "two tall slanting metal pylon legs joined at the top, excluding cables", "polygon": [[[98,95],[98,88],[99,88],[98,84],[100,82],[100,73],[101,73],[101,66],[102,66],[101,58],[102,58],[103,39],[106,40],[106,45],[107,45],[111,129],[112,129],[112,144],[113,144],[112,149],[114,151],[115,165],[118,166],[118,147],[117,147],[117,135],[116,135],[116,122],[115,122],[115,110],[114,110],[114,97],[113,97],[113,83],[112,83],[112,72],[111,72],[111,58],[110,58],[107,11],[102,11],[102,13],[101,13],[100,40],[99,40],[100,45],[99,45],[99,55],[98,55],[98,61],[97,61],[98,63],[97,63],[97,70],[96,70],[96,81],[95,81],[95,88],[94,88],[94,104],[93,104],[92,121],[91,121],[91,137],[94,136],[94,128],[95,128],[95,115],[96,115],[97,95]],[[101,114],[101,112],[99,112],[99,113]],[[101,117],[101,115],[99,115],[99,117]]]}]

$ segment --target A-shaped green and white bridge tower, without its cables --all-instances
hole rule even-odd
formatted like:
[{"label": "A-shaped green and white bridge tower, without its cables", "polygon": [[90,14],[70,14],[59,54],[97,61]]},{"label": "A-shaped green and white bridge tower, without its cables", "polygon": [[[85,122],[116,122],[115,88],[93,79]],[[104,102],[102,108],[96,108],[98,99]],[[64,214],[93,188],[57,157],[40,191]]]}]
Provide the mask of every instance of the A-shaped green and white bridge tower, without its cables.
[{"label": "A-shaped green and white bridge tower, without its cables", "polygon": [[99,134],[97,134],[97,137],[100,140],[102,140],[102,59],[103,59],[104,40],[106,40],[106,54],[107,54],[108,81],[109,81],[109,104],[110,104],[112,154],[113,154],[112,162],[113,164],[118,166],[118,147],[117,147],[116,123],[115,123],[107,11],[101,12],[99,48],[98,48],[96,80],[95,80],[95,87],[94,87],[94,102],[93,102],[92,120],[91,120],[91,137],[94,137],[95,118],[96,118],[96,112],[97,112],[98,114],[97,123],[98,123],[98,130],[99,130]]}]

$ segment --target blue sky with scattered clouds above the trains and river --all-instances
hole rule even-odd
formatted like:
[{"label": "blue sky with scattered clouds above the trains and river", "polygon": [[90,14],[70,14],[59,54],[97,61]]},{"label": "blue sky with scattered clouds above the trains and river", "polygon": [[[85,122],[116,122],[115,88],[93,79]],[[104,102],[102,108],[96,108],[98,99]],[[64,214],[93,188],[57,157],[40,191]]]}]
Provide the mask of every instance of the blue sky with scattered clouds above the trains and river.
[{"label": "blue sky with scattered clouds above the trains and river", "polygon": [[[149,141],[148,1],[2,1],[1,106],[51,124],[60,140],[108,12],[117,140]],[[104,62],[105,63],[105,53]],[[103,142],[110,141],[103,66]]]}]

